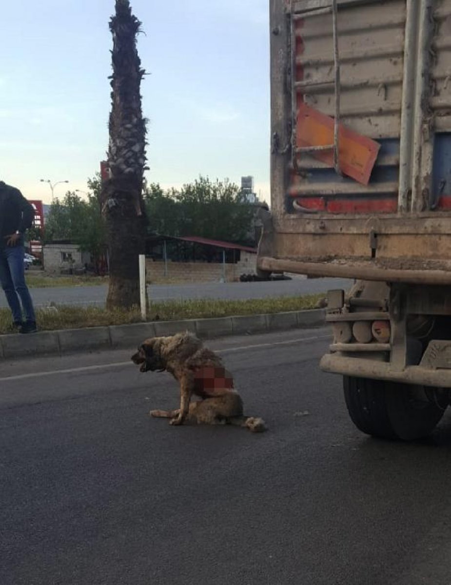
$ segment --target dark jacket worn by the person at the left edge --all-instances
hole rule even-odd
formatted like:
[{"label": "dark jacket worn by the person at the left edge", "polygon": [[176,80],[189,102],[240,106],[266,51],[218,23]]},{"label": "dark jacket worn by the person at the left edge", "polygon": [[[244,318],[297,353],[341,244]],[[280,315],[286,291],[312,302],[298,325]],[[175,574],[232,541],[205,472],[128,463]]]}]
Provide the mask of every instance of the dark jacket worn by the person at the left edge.
[{"label": "dark jacket worn by the person at the left edge", "polygon": [[[35,219],[35,208],[22,193],[11,185],[0,181],[0,247],[5,246],[6,236],[24,233]],[[23,237],[20,240],[23,243]]]}]

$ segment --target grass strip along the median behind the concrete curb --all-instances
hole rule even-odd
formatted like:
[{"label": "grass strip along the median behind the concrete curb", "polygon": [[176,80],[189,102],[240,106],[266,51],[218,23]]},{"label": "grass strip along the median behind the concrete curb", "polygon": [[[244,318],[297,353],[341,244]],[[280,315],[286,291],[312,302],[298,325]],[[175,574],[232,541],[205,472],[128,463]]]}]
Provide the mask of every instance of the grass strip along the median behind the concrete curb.
[{"label": "grass strip along the median behind the concrete curb", "polygon": [[[316,303],[323,297],[323,294],[315,294],[305,297],[278,297],[245,301],[189,300],[153,302],[150,305],[148,321],[178,321],[181,319],[301,311],[316,308]],[[56,305],[55,307],[37,309],[37,325],[40,331],[127,325],[139,322],[141,322],[141,314],[138,308],[131,311],[126,311],[125,309],[108,311],[101,307]],[[11,312],[9,309],[0,309],[0,335],[11,332]]]}]

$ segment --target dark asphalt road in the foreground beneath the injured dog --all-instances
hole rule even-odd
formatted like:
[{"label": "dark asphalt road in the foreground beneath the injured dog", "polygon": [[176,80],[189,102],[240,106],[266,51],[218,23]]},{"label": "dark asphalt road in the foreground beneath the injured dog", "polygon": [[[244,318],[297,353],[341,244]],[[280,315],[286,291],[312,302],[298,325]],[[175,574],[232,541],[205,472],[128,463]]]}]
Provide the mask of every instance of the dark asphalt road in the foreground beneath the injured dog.
[{"label": "dark asphalt road in the foreground beneath the injured dog", "polygon": [[269,431],[174,428],[130,352],[0,366],[2,585],[448,585],[451,418],[367,438],[328,330],[211,342]]}]

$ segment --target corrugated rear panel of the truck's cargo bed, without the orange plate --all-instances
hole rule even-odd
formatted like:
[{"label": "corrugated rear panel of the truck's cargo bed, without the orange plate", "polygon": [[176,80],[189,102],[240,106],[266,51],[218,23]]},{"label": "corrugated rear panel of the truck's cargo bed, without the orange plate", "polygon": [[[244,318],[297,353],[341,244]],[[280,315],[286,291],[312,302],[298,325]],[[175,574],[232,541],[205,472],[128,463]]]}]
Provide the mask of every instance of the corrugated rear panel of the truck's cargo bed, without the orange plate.
[{"label": "corrugated rear panel of the truck's cargo bed, without the orange plate", "polygon": [[[393,266],[451,284],[451,0],[336,0],[335,36],[334,4],[270,2],[272,220],[259,267],[333,276],[363,263],[377,278]],[[380,144],[367,185],[299,148],[301,103]]]}]

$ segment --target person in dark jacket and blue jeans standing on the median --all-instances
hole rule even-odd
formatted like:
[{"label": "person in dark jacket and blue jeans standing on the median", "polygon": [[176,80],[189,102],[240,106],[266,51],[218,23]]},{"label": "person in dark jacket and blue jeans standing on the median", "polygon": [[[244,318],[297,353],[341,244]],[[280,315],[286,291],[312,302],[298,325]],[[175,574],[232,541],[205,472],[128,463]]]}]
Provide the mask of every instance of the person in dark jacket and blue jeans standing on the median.
[{"label": "person in dark jacket and blue jeans standing on the median", "polygon": [[37,331],[35,309],[26,285],[23,261],[23,235],[32,226],[34,218],[35,209],[22,193],[0,181],[0,284],[12,312],[13,326],[20,333]]}]

